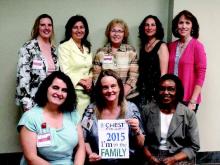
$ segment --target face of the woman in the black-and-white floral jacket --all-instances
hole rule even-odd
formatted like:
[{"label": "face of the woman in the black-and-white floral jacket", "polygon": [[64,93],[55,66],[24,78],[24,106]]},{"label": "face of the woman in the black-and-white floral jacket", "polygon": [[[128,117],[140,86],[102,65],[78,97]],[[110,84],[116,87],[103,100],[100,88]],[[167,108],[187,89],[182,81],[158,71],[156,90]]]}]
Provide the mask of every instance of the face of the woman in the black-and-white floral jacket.
[{"label": "face of the woman in the black-and-white floral jacket", "polygon": [[43,39],[50,39],[53,33],[53,25],[49,18],[41,18],[39,23],[39,36]]}]

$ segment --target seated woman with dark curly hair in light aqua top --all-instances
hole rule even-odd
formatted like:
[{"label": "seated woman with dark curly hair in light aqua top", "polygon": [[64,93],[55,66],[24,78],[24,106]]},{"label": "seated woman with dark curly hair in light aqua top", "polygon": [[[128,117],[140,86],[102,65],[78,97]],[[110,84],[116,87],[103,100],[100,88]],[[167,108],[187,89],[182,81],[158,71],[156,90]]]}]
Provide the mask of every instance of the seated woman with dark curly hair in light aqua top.
[{"label": "seated woman with dark curly hair in light aqua top", "polygon": [[60,71],[50,74],[40,85],[35,102],[37,106],[18,123],[24,153],[21,165],[83,165],[85,144],[70,78]]}]

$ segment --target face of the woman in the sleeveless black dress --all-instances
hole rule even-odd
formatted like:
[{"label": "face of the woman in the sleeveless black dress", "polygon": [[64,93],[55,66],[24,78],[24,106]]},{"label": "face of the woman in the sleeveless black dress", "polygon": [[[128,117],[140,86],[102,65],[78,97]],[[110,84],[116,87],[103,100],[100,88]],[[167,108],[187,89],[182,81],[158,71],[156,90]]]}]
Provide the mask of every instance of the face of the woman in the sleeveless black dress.
[{"label": "face of the woman in the sleeveless black dress", "polygon": [[154,21],[153,18],[146,19],[145,26],[144,26],[144,31],[145,31],[145,34],[148,37],[155,36],[155,34],[157,32],[157,26],[156,26],[156,22]]}]

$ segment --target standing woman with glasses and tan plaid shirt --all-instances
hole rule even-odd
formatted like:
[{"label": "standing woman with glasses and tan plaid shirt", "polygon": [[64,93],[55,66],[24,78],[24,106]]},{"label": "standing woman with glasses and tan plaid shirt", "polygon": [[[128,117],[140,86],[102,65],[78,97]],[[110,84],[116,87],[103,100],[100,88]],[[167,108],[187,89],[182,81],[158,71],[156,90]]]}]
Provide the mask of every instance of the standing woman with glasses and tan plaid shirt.
[{"label": "standing woman with glasses and tan plaid shirt", "polygon": [[125,97],[134,99],[138,93],[135,92],[138,78],[138,65],[136,50],[129,44],[128,26],[121,19],[113,19],[105,30],[107,44],[99,49],[93,61],[94,81],[104,69],[116,71],[124,84]]}]

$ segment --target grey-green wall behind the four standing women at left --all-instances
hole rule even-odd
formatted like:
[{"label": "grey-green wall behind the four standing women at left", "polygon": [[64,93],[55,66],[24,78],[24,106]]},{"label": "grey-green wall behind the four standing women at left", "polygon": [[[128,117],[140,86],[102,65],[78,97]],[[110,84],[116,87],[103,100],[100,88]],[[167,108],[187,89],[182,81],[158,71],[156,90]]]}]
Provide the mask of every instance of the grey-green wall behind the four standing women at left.
[{"label": "grey-green wall behind the four standing women at left", "polygon": [[48,13],[54,18],[57,42],[68,18],[84,15],[94,52],[103,46],[104,29],[115,17],[128,23],[130,41],[136,48],[137,27],[148,14],[157,15],[167,29],[168,5],[165,0],[0,0],[0,153],[20,151],[16,132],[20,115],[14,103],[17,51],[28,40],[38,15]]}]

